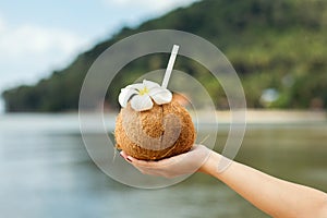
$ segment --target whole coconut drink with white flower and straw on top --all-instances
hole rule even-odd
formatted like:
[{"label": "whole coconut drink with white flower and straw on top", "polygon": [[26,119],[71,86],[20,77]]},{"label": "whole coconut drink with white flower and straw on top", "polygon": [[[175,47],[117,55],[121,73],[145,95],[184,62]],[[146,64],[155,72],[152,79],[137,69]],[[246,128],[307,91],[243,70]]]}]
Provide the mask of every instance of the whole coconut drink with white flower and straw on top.
[{"label": "whole coconut drink with white flower and straw on top", "polygon": [[167,89],[177,56],[173,47],[162,85],[144,80],[121,89],[116,120],[118,149],[142,160],[159,160],[189,152],[195,129],[187,110]]}]

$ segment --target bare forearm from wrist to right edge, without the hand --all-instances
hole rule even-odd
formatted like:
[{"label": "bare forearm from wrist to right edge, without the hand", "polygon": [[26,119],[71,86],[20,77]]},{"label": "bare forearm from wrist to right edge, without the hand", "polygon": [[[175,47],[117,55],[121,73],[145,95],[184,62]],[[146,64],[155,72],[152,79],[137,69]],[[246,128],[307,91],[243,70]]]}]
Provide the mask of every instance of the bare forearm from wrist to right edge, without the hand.
[{"label": "bare forearm from wrist to right edge, without the hand", "polygon": [[216,177],[270,216],[327,217],[323,215],[327,207],[325,193],[279,180],[234,161],[219,173],[220,158],[219,154],[213,153],[201,170]]}]

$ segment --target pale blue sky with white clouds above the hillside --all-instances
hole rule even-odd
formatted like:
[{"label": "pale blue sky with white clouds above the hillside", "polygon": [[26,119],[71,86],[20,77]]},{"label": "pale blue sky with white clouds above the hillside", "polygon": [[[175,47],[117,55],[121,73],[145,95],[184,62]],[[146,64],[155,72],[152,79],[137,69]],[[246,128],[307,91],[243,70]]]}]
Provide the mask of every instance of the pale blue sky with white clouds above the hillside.
[{"label": "pale blue sky with white clouds above the hillside", "polygon": [[0,93],[36,83],[64,68],[77,53],[122,26],[135,26],[195,1],[0,1]]}]

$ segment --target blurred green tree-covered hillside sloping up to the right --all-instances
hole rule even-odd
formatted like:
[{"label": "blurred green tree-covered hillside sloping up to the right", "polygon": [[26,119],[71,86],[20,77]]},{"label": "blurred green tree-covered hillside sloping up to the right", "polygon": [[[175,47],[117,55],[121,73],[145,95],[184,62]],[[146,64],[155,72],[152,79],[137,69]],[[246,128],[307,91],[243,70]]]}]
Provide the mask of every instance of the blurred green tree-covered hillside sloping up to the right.
[{"label": "blurred green tree-covered hillside sloping up to the right", "polygon": [[[77,110],[83,80],[104,50],[126,36],[161,28],[193,33],[215,44],[241,77],[251,108],[327,108],[327,1],[203,0],[135,28],[123,27],[36,85],[5,90],[5,110]],[[109,87],[109,107],[118,108],[121,87],[143,72],[166,68],[167,60],[165,55],[147,56],[124,68],[129,74],[118,75]],[[175,69],[207,84],[208,93],[217,96],[217,108],[226,107],[225,95],[204,68],[179,59]]]}]

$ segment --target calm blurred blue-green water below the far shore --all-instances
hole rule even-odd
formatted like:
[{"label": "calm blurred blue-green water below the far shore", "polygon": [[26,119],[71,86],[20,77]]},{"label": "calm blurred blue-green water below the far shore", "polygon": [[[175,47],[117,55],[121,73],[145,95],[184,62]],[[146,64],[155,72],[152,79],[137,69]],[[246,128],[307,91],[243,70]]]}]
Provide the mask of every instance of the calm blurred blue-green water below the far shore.
[{"label": "calm blurred blue-green water below the far shore", "polygon": [[[106,121],[112,131],[114,114]],[[96,137],[96,131],[89,134]],[[207,134],[198,133],[199,138]],[[228,129],[221,128],[218,142],[223,142],[227,134]],[[327,192],[326,157],[327,122],[322,121],[247,124],[235,159]],[[25,113],[0,114],[0,217],[268,216],[221,182],[199,173],[158,190],[121,184],[89,158],[77,114]]]}]

